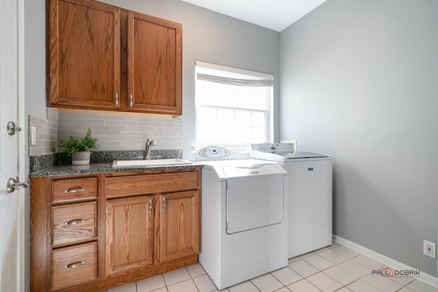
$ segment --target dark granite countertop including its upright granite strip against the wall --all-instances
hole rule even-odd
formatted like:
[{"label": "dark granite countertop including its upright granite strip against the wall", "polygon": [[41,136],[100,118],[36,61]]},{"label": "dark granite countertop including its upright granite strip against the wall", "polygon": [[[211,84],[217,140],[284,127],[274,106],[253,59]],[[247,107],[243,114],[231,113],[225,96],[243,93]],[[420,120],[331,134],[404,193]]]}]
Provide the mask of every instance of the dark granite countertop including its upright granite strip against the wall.
[{"label": "dark granite countertop including its upright granite strip against the wall", "polygon": [[[68,176],[80,174],[108,174],[114,172],[145,172],[151,170],[181,170],[190,168],[202,168],[203,163],[188,165],[151,165],[151,166],[123,166],[112,167],[113,160],[139,159],[143,157],[142,150],[123,150],[123,151],[99,151],[92,152],[90,164],[71,165],[71,157],[65,153],[57,152],[48,155],[38,155],[30,157],[30,178],[45,176]],[[152,150],[152,159],[166,159],[182,157],[181,150]]]}]

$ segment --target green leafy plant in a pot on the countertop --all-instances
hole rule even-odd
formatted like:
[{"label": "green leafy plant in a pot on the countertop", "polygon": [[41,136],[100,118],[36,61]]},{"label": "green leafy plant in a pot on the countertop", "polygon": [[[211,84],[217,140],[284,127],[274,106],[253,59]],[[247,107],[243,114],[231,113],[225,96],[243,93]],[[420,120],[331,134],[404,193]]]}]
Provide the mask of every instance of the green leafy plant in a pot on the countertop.
[{"label": "green leafy plant in a pot on the countertop", "polygon": [[62,143],[61,151],[66,152],[71,156],[73,165],[90,164],[91,150],[97,149],[100,145],[97,144],[97,138],[91,137],[91,129],[88,128],[85,137],[79,139],[71,137],[69,140],[60,140]]}]

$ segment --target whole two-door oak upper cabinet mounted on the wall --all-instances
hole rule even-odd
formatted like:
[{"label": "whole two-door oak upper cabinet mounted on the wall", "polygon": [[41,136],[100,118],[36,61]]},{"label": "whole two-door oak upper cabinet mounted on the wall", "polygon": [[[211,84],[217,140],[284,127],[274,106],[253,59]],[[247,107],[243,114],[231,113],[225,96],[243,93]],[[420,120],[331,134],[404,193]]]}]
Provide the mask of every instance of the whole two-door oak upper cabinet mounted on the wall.
[{"label": "whole two-door oak upper cabinet mounted on the wall", "polygon": [[92,0],[47,0],[47,105],[180,116],[182,25]]}]

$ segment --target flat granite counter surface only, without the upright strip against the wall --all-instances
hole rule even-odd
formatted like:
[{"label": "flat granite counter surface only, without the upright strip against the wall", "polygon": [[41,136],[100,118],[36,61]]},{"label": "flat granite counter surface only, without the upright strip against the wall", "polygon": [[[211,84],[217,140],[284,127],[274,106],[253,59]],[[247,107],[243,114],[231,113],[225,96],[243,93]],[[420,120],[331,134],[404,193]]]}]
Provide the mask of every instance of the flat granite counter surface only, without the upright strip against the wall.
[{"label": "flat granite counter surface only, without the upright strip against the wall", "polygon": [[123,168],[113,168],[112,162],[90,163],[88,165],[55,165],[39,172],[29,173],[29,177],[45,176],[68,176],[79,174],[108,174],[113,172],[141,172],[149,170],[181,170],[190,168],[202,168],[202,163],[190,165],[166,165],[166,166],[127,166]]}]

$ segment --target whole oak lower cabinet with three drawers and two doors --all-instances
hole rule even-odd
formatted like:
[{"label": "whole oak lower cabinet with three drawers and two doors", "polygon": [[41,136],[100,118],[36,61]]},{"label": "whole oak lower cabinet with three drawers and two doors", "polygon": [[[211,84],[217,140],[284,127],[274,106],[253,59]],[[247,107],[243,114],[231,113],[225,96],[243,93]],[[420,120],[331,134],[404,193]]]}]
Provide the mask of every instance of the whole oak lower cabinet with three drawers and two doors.
[{"label": "whole oak lower cabinet with three drawers and two doors", "polygon": [[31,178],[30,291],[104,291],[198,262],[201,168]]}]

